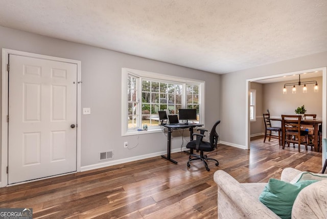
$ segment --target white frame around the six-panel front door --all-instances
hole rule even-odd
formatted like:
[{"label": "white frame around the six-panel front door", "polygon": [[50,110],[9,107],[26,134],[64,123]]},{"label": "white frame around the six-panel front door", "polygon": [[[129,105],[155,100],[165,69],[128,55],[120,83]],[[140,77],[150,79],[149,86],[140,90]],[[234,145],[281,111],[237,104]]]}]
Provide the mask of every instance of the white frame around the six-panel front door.
[{"label": "white frame around the six-panel front door", "polygon": [[59,58],[53,56],[40,55],[35,53],[22,52],[17,50],[2,49],[2,140],[1,140],[1,185],[5,187],[8,185],[8,72],[7,64],[9,54],[28,56],[32,58],[47,59],[52,61],[68,62],[77,65],[77,151],[76,151],[76,170],[81,171],[81,61]]}]

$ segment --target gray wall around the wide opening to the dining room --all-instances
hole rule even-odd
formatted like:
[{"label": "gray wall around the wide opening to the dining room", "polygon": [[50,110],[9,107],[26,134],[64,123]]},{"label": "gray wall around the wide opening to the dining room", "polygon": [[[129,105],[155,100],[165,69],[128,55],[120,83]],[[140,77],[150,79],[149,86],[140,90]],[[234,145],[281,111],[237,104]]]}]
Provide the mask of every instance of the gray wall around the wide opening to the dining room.
[{"label": "gray wall around the wide opening to the dining room", "polygon": [[[224,74],[221,77],[221,132],[220,140],[235,145],[246,145],[246,80],[263,76],[290,73],[327,66],[327,52],[299,57],[260,67]],[[322,89],[320,87],[319,89]]]}]

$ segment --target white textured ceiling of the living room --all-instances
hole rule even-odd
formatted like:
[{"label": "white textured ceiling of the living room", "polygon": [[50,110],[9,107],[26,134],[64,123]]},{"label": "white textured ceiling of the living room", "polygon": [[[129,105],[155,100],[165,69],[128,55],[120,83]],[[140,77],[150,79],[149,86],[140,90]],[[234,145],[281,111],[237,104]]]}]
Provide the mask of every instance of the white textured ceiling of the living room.
[{"label": "white textured ceiling of the living room", "polygon": [[218,74],[327,51],[326,0],[0,0],[0,26]]}]

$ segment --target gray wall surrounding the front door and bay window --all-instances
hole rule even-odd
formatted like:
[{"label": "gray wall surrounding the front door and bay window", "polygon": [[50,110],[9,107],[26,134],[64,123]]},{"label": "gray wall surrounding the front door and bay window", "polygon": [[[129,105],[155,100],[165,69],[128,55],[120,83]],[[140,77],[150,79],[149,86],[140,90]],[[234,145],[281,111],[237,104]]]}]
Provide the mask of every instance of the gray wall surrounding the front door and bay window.
[{"label": "gray wall surrounding the front door and bay window", "polygon": [[[220,118],[220,75],[1,26],[0,38],[0,48],[81,61],[81,107],[91,108],[91,115],[82,115],[81,118],[82,167],[100,163],[99,151],[113,149],[114,160],[119,160],[167,150],[164,133],[121,136],[122,68],[205,81],[206,127],[211,127]],[[219,132],[219,127],[217,130]],[[138,145],[128,150],[123,146],[125,141],[130,147]],[[172,148],[180,148],[181,142],[176,133]]]}]

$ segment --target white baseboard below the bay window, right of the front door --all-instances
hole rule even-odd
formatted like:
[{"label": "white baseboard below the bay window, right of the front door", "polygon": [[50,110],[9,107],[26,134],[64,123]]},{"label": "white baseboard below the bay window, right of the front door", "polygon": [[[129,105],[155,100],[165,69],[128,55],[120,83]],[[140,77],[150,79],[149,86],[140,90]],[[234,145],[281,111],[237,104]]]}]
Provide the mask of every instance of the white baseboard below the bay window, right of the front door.
[{"label": "white baseboard below the bay window, right of the front door", "polygon": [[[176,148],[176,149],[172,149],[171,153],[180,152],[181,150],[183,151],[183,150],[188,150],[188,149],[186,147]],[[98,164],[82,166],[81,172],[87,171],[87,170],[92,170],[92,169],[97,169],[97,168],[102,168],[102,167],[108,167],[108,166],[112,166],[112,165],[116,165],[116,164],[123,164],[123,163],[131,162],[131,161],[138,161],[138,160],[142,160],[142,159],[153,158],[153,157],[157,157],[160,155],[167,155],[167,150],[155,152],[155,153],[147,154],[147,155],[135,156],[135,157],[131,157],[131,158],[124,158],[124,159],[120,159],[120,160],[107,161],[107,162],[101,162]]]}]

